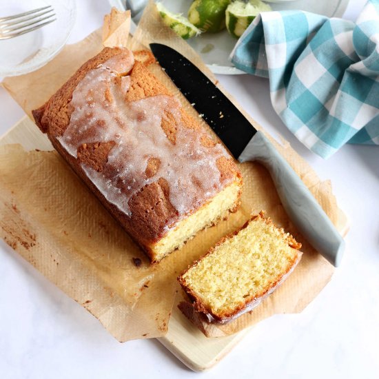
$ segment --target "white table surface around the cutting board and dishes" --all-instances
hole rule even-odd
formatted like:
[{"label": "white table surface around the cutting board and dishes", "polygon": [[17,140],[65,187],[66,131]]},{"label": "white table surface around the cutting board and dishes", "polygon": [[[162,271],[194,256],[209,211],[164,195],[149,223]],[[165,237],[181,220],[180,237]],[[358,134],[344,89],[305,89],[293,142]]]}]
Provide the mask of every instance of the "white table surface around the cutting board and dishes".
[{"label": "white table surface around the cutting board and dishes", "polygon": [[[109,11],[106,0],[77,3],[70,42],[99,28]],[[345,18],[356,19],[364,3],[351,0]],[[379,378],[379,147],[346,145],[324,161],[280,121],[266,80],[219,80],[258,123],[331,178],[351,222],[331,283],[302,314],[260,322],[216,367],[193,373],[156,340],[114,340],[0,241],[0,378]],[[0,134],[23,116],[1,88],[0,116]]]}]

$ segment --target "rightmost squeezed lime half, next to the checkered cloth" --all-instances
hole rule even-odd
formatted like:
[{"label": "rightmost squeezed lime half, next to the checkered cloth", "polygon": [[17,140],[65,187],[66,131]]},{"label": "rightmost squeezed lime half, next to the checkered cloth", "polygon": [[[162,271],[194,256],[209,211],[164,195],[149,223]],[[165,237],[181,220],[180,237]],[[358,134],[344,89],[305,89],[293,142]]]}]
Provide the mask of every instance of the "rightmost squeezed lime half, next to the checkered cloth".
[{"label": "rightmost squeezed lime half, next to the checkered cloth", "polygon": [[225,12],[226,28],[232,36],[239,38],[260,12],[269,12],[272,8],[260,0],[234,1]]}]

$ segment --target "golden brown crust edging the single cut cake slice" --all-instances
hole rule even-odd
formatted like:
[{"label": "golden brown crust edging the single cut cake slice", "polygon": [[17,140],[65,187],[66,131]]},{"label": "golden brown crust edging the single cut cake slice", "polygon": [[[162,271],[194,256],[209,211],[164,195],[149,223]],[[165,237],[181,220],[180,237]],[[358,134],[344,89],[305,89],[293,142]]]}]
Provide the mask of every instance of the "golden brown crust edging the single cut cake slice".
[{"label": "golden brown crust edging the single cut cake slice", "polygon": [[[198,260],[195,260],[194,263],[192,263],[192,265],[189,265],[189,267],[187,267],[187,269],[185,269],[185,271],[180,276],[178,276],[178,278],[177,278],[178,283],[181,285],[181,287],[183,288],[183,290],[187,294],[189,300],[191,300],[192,307],[193,307],[194,311],[199,312],[199,313],[207,316],[207,320],[209,322],[215,322],[215,323],[229,322],[229,321],[233,320],[234,318],[240,316],[241,314],[245,313],[246,309],[249,306],[253,305],[253,303],[256,302],[257,300],[258,300],[258,303],[260,303],[261,299],[265,298],[265,296],[267,296],[268,294],[271,294],[273,289],[275,289],[278,285],[280,285],[280,283],[283,282],[283,280],[291,273],[291,271],[294,269],[294,267],[296,267],[296,265],[300,261],[300,258],[303,254],[301,252],[299,252],[296,256],[294,256],[294,260],[291,262],[291,265],[289,265],[289,269],[287,270],[287,272],[283,273],[283,275],[280,276],[280,278],[278,278],[278,280],[276,280],[275,283],[272,283],[272,285],[267,287],[265,289],[265,291],[261,292],[260,294],[256,294],[256,296],[254,296],[254,298],[246,298],[245,303],[240,304],[238,307],[236,307],[230,313],[225,312],[222,317],[214,314],[212,312],[212,309],[207,307],[207,305],[205,305],[203,303],[201,298],[198,298],[197,294],[194,291],[192,291],[192,289],[186,285],[183,276],[189,269],[191,269],[192,267],[195,267],[201,260],[203,260],[203,258],[208,256],[209,254],[212,254],[214,252],[214,249],[216,249],[216,247],[223,244],[225,242],[225,240],[228,240],[229,238],[233,238],[234,236],[236,236],[236,234],[238,234],[242,229],[245,229],[251,221],[254,221],[257,218],[260,218],[262,221],[267,223],[267,225],[276,226],[274,223],[272,223],[271,218],[265,218],[265,212],[261,211],[259,214],[252,216],[252,218],[249,218],[249,220],[246,221],[246,223],[242,227],[240,227],[239,229],[237,229],[233,233],[221,238],[221,240],[219,240],[218,243],[216,243],[216,245],[214,245],[214,247],[209,249],[209,251],[207,253],[205,253],[203,256],[201,256],[200,258],[198,258]],[[280,228],[280,229],[278,228],[278,230],[280,231],[281,234],[283,234],[283,236],[287,240],[289,247],[291,247],[292,249],[296,249],[296,250],[299,250],[301,248],[301,243],[298,243],[295,240],[295,238],[293,236],[291,236],[291,234],[286,234],[284,232],[283,228]],[[187,305],[181,305],[181,307],[179,307],[179,309],[181,309],[183,314],[185,314],[185,316],[187,316],[187,318],[189,318],[189,320],[192,320],[192,322],[194,322],[194,317],[191,316],[191,311],[189,311]],[[194,322],[194,323],[195,323],[195,325],[197,325],[196,322]]]}]

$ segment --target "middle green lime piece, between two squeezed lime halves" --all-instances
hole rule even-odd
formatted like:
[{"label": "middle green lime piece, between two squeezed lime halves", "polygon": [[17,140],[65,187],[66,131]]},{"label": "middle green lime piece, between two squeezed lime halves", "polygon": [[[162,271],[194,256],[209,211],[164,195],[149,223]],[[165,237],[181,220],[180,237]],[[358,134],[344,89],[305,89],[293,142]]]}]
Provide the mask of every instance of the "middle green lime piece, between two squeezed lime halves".
[{"label": "middle green lime piece, between two squeezed lime halves", "polygon": [[220,32],[225,28],[225,10],[230,0],[195,0],[188,19],[202,32]]}]

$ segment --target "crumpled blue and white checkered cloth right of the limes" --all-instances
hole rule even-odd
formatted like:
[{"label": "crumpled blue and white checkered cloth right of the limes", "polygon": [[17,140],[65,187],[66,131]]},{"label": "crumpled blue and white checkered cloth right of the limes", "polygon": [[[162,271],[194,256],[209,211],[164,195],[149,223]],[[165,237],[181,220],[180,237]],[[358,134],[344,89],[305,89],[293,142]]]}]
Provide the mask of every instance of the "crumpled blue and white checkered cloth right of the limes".
[{"label": "crumpled blue and white checkered cloth right of the limes", "polygon": [[285,125],[323,158],[345,143],[379,145],[379,0],[356,23],[303,11],[263,12],[232,52],[269,78]]}]

